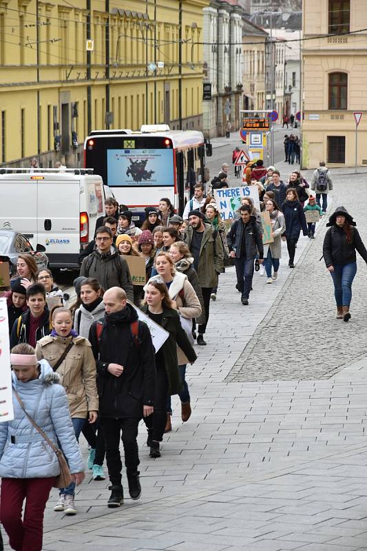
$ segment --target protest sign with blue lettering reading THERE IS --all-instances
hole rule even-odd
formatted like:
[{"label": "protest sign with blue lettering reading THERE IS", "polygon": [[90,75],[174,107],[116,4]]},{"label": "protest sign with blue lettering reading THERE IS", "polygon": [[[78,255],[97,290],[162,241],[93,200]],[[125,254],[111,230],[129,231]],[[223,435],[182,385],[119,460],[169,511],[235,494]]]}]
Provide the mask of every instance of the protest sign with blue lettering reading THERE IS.
[{"label": "protest sign with blue lettering reading THERE IS", "polygon": [[259,191],[255,185],[215,189],[214,196],[223,222],[233,222],[244,198],[251,198],[255,209],[260,212]]}]

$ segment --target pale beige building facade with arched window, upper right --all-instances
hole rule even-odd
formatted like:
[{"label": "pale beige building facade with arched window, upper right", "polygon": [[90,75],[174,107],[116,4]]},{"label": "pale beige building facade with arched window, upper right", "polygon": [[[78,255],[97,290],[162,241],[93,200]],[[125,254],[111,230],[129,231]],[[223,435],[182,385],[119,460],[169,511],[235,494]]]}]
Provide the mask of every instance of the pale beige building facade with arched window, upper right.
[{"label": "pale beige building facade with arched window, upper right", "polygon": [[[367,9],[365,0],[304,0],[302,165],[367,165]],[[351,32],[352,34],[348,34]],[[320,37],[329,34],[332,36]],[[315,37],[315,38],[313,38]]]}]

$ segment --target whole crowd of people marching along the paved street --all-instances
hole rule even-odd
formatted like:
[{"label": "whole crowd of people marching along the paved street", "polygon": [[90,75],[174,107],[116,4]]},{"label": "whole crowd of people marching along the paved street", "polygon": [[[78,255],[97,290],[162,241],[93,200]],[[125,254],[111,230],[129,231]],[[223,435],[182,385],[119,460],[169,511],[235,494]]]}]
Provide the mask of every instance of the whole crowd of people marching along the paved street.
[{"label": "whole crowd of people marching along the paved street", "polygon": [[[57,287],[50,269],[38,270],[29,253],[19,256],[17,275],[4,294],[12,382],[20,401],[14,398],[14,422],[0,424],[0,518],[13,549],[41,550],[43,510],[58,474],[56,456],[27,415],[62,447],[70,466],[72,479],[58,486],[55,511],[77,512],[75,488],[84,477],[81,434],[89,445],[87,467],[95,481],[105,479],[107,463],[107,506],[118,507],[124,498],[120,440],[129,496],[138,499],[138,425],[143,419],[149,457],[158,458],[163,435],[172,430],[172,395],[180,398],[182,422],[189,420],[187,366],[196,361],[193,345],[207,344],[210,304],[217,299],[224,266],[234,264],[235,288],[248,305],[255,270],[266,273],[269,284],[277,280],[282,240],[294,268],[301,231],[314,238],[317,222],[306,216],[323,216],[333,189],[325,163],[315,170],[310,187],[299,170],[284,183],[275,167],[264,167],[262,160],[249,162],[246,177],[258,190],[260,211],[251,198],[243,198],[230,228],[220,217],[214,194],[228,187],[228,174],[224,163],[207,190],[197,183],[182,216],[169,198],[161,198],[158,208],[145,209],[141,227],[125,205],[107,198],[94,239],[81,251],[73,300]],[[271,221],[272,240],[265,245],[262,211]],[[367,251],[343,207],[329,225],[324,259],[335,286],[337,318],[348,321],[355,250],[366,262]],[[144,259],[143,284],[132,281],[127,257]],[[167,332],[157,349],[138,309]],[[27,547],[30,539],[32,546]]]}]

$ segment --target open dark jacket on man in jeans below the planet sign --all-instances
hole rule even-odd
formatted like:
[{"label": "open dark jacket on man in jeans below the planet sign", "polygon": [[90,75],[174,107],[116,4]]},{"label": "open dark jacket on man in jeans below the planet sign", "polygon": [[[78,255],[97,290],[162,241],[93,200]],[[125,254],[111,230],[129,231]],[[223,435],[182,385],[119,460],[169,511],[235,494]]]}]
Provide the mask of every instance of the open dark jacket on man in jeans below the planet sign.
[{"label": "open dark jacket on man in jeans below the planet sign", "polygon": [[231,229],[227,235],[229,251],[235,251],[235,258],[240,258],[243,231],[247,260],[255,258],[258,251],[260,258],[264,258],[264,245],[262,245],[261,230],[253,214],[251,214],[250,221],[247,225],[244,225],[241,219],[235,220],[231,225]]}]

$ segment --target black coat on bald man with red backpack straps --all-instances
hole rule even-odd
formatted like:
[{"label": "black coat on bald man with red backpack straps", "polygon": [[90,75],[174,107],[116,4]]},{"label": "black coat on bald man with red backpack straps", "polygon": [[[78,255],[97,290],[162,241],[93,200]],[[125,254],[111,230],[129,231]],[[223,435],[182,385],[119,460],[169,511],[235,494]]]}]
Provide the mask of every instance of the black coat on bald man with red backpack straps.
[{"label": "black coat on bald man with red backpack straps", "polygon": [[[105,315],[98,342],[96,325],[90,328],[89,340],[97,366],[99,410],[102,417],[143,417],[143,406],[154,405],[156,364],[154,346],[147,324],[138,322],[139,343],[133,339],[131,324],[138,319],[136,310],[127,306]],[[123,374],[115,377],[107,367],[120,364]]]}]

